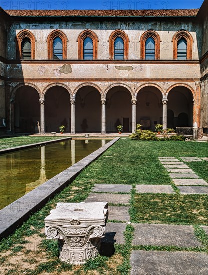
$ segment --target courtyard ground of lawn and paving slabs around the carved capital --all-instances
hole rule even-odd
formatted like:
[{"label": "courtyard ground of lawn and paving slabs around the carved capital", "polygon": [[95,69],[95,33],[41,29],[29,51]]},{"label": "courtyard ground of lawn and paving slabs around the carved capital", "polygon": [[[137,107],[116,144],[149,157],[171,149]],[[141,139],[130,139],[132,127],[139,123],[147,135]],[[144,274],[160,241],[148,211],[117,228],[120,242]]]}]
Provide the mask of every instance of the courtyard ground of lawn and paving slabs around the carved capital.
[{"label": "courtyard ground of lawn and paving slabs around the carved capital", "polygon": [[[15,144],[12,140],[8,139],[10,146]],[[13,235],[1,240],[0,272],[207,274],[207,156],[207,142],[133,141],[121,135]],[[57,202],[82,201],[108,201],[106,237],[97,258],[68,265],[58,259],[57,242],[46,240],[44,218]]]}]

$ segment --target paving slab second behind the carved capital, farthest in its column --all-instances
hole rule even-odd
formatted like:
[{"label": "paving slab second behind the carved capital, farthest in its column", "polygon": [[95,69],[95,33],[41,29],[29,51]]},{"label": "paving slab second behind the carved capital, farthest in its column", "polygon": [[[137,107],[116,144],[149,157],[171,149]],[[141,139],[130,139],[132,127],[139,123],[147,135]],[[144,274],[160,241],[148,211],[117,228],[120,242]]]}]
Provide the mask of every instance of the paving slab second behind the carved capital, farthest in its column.
[{"label": "paving slab second behind the carved capital, farthest in its column", "polygon": [[132,189],[131,185],[124,184],[96,184],[92,188],[92,192],[112,192],[112,193],[129,193]]}]

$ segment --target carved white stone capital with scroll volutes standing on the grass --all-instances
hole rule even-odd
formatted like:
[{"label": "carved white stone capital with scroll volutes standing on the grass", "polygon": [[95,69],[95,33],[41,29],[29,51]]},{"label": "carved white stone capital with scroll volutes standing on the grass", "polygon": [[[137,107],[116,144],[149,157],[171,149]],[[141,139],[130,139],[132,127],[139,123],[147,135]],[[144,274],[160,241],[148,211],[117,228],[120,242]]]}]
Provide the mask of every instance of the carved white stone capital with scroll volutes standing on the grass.
[{"label": "carved white stone capital with scroll volutes standing on the grass", "polygon": [[97,256],[105,234],[107,202],[58,203],[45,218],[47,239],[58,239],[60,260],[83,264]]}]

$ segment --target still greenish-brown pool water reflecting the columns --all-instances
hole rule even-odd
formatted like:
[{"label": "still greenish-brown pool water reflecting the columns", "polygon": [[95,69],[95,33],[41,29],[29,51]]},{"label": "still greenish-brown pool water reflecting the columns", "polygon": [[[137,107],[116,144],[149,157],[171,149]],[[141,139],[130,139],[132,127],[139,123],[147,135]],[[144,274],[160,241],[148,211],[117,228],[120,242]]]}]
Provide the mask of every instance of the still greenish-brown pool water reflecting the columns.
[{"label": "still greenish-brown pool water reflecting the columns", "polygon": [[110,140],[67,140],[0,156],[0,209]]}]

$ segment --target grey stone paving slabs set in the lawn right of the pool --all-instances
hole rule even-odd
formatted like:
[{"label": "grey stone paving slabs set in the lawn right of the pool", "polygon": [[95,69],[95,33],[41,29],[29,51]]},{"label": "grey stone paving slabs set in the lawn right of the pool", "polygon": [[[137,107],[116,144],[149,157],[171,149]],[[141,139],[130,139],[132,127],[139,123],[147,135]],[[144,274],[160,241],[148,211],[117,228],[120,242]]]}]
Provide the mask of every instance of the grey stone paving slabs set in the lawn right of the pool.
[{"label": "grey stone paving slabs set in the lawn right of the pool", "polygon": [[[180,194],[208,194],[208,183],[176,157],[159,158],[180,190]],[[198,160],[197,160],[198,161]],[[201,160],[202,161],[202,160]],[[193,186],[198,185],[198,186]],[[129,203],[131,185],[96,184],[85,202],[108,201],[109,217],[106,234],[101,241],[101,254],[111,256],[114,244],[125,244],[124,231],[130,223]],[[136,193],[174,194],[171,185],[136,185]],[[111,222],[113,221],[113,222]],[[200,248],[203,244],[190,225],[131,224],[134,228],[130,257],[132,275],[207,275],[208,255],[191,251],[136,250],[142,247]],[[208,226],[201,226],[208,235]],[[167,248],[169,249],[169,248]]]}]

